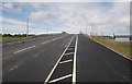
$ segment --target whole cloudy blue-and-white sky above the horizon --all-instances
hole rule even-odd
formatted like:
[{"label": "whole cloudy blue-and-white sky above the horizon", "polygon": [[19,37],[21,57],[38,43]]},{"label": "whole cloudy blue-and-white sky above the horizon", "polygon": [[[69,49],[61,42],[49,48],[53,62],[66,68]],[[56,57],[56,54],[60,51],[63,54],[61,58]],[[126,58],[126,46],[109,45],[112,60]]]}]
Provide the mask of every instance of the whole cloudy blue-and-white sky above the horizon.
[{"label": "whole cloudy blue-and-white sky above the horizon", "polygon": [[130,34],[130,2],[3,2],[2,33],[47,32]]}]

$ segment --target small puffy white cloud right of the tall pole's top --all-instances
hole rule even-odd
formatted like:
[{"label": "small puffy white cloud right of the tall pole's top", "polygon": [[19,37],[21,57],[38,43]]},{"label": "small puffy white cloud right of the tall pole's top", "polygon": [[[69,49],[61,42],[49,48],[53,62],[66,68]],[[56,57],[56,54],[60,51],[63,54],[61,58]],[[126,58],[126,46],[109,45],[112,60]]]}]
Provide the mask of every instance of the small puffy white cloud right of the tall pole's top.
[{"label": "small puffy white cloud right of the tall pole's top", "polygon": [[47,16],[48,16],[48,12],[45,11],[33,12],[30,14],[30,19],[33,21],[43,20]]}]

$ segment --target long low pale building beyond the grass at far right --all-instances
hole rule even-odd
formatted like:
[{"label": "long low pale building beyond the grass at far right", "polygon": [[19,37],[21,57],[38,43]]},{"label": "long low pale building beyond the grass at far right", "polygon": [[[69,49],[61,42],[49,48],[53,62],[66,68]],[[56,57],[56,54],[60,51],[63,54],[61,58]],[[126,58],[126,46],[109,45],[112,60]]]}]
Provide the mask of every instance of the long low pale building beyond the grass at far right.
[{"label": "long low pale building beyond the grass at far right", "polygon": [[130,40],[132,40],[132,36],[130,36],[130,35],[116,35],[114,40],[116,41],[130,41]]}]

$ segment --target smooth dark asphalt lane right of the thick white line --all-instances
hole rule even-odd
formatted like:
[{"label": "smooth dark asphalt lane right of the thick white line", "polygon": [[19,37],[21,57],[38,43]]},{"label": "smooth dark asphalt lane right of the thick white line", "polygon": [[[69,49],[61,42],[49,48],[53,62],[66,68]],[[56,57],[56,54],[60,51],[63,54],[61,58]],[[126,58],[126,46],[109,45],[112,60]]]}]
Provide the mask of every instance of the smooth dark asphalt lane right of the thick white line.
[{"label": "smooth dark asphalt lane right of the thick white line", "polygon": [[132,61],[78,36],[77,82],[132,82]]}]

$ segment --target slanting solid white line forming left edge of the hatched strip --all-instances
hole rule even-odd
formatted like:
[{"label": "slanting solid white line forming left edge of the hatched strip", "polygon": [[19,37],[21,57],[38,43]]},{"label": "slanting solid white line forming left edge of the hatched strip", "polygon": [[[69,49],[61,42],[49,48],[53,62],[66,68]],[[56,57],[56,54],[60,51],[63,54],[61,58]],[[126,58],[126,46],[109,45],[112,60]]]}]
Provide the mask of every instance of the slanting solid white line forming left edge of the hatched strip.
[{"label": "slanting solid white line forming left edge of the hatched strip", "polygon": [[61,59],[63,58],[63,56],[65,55],[66,50],[68,49],[69,45],[72,44],[73,39],[75,38],[75,36],[72,38],[72,40],[69,41],[68,46],[66,47],[66,49],[64,50],[64,52],[62,53],[62,56],[59,57],[59,59],[57,60],[57,62],[55,63],[54,68],[52,69],[51,73],[48,74],[47,79],[45,80],[44,84],[47,84],[50,77],[52,76],[53,72],[55,71],[56,67],[58,65]]}]

